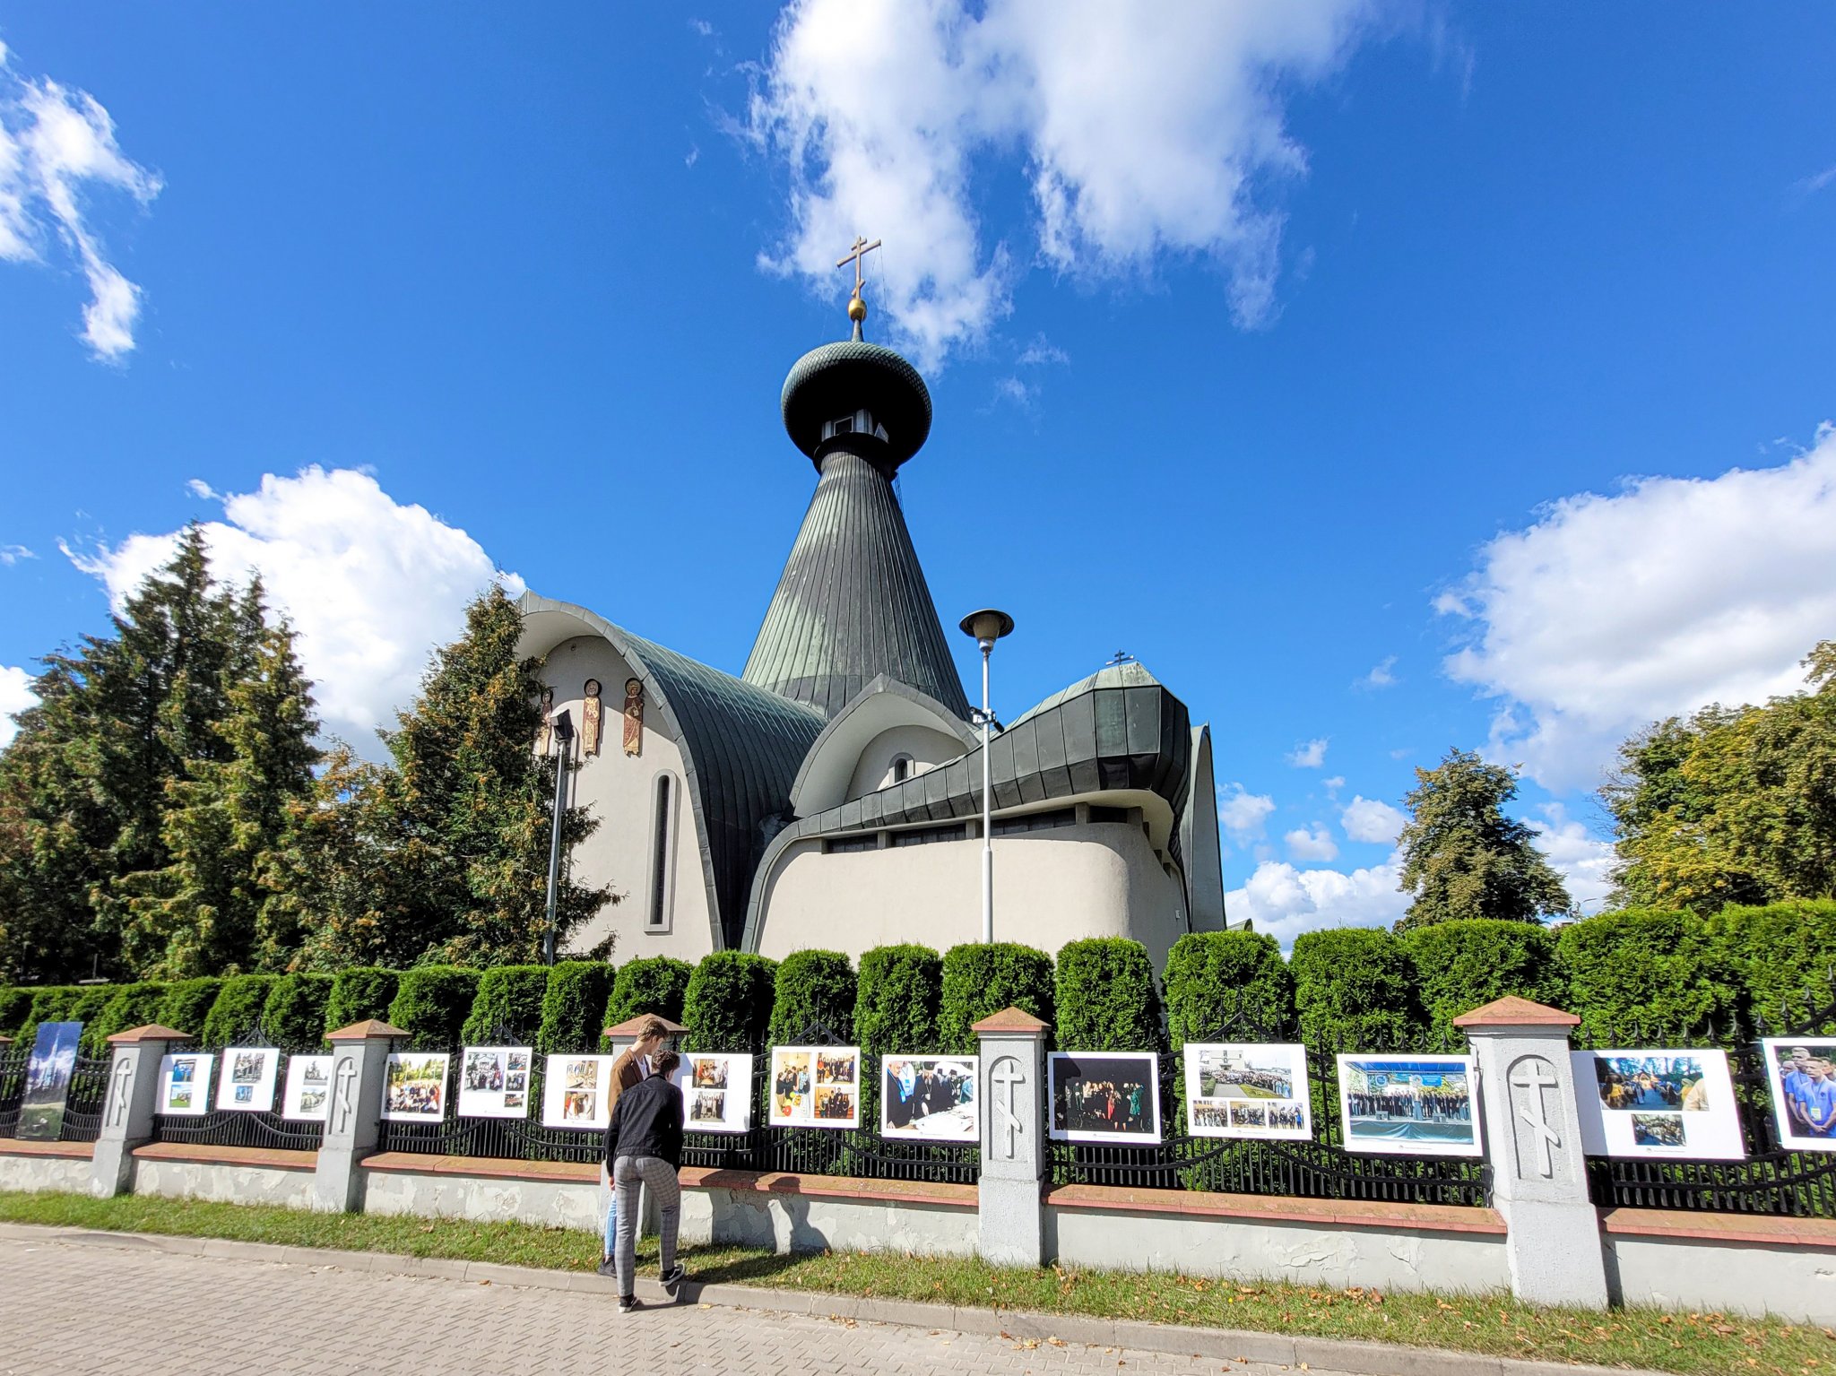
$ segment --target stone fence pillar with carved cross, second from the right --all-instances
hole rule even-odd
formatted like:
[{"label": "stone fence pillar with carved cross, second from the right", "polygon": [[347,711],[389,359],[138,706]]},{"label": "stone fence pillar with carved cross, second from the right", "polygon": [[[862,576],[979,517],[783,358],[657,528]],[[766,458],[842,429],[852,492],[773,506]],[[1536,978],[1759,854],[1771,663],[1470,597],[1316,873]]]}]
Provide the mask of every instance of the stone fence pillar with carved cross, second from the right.
[{"label": "stone fence pillar with carved cross, second from the right", "polygon": [[1017,1007],[971,1027],[980,1038],[980,1253],[993,1266],[1045,1260],[1047,1024]]}]

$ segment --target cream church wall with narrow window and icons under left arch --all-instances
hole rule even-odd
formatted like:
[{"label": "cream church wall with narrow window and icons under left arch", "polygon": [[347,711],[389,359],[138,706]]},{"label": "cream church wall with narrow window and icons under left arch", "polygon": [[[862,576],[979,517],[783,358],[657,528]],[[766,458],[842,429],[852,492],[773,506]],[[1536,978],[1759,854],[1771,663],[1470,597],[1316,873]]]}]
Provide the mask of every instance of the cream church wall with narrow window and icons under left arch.
[{"label": "cream church wall with narrow window and icons under left arch", "polygon": [[[599,679],[604,705],[600,752],[589,756],[573,776],[573,804],[589,807],[599,818],[599,829],[575,846],[569,862],[578,882],[611,884],[621,901],[600,908],[597,917],[569,934],[567,950],[588,950],[608,934],[617,934],[613,960],[621,965],[641,956],[676,956],[694,961],[714,949],[714,939],[683,754],[663,730],[663,714],[654,701],[644,703],[643,749],[637,756],[624,754],[622,706],[624,681],[630,677],[632,670],[624,657],[597,635],[558,644],[549,651],[542,673],[543,682],[554,688],[554,708],[567,708],[577,730],[588,679]],[[670,776],[674,822],[665,875],[668,901],[665,930],[648,925],[659,774]]]}]

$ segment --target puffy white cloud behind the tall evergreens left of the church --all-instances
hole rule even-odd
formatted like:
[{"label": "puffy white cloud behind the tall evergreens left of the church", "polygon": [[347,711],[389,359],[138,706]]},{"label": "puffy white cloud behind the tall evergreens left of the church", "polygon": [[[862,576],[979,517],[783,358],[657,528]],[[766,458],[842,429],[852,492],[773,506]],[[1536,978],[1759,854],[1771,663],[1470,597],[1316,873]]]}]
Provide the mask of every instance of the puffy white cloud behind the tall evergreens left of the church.
[{"label": "puffy white cloud behind the tall evergreens left of the church", "polygon": [[[393,712],[413,697],[433,646],[463,629],[465,604],[498,578],[512,596],[523,591],[472,536],[424,506],[397,503],[369,473],[314,466],[296,477],[268,473],[255,492],[215,495],[224,519],[204,525],[215,572],[261,572],[270,604],[299,631],[325,730],[367,754],[380,750],[375,728],[393,727]],[[130,536],[94,554],[64,552],[119,607],[171,558],[176,538]]]}]

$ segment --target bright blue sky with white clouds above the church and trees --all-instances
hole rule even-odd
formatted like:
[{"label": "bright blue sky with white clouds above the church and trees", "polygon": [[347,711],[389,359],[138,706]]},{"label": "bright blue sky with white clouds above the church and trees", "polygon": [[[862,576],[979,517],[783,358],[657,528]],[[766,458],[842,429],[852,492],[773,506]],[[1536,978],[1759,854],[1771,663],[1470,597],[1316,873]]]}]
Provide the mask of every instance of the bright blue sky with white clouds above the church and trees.
[{"label": "bright blue sky with white clouds above the church and trees", "polygon": [[494,569],[738,671],[859,229],[997,708],[1146,662],[1283,938],[1452,745],[1597,906],[1612,743],[1836,635],[1836,29],[1179,11],[0,6],[0,701],[193,517],[354,738]]}]

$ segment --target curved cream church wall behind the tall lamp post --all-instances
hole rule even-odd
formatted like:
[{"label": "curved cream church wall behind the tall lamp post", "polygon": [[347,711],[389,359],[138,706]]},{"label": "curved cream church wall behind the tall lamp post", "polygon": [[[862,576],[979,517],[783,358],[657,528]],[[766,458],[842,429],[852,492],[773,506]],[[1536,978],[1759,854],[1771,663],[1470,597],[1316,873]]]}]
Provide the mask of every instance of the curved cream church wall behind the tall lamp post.
[{"label": "curved cream church wall behind the tall lamp post", "polygon": [[[938,950],[982,939],[982,842],[938,840],[823,855],[799,842],[762,899],[758,954],[821,947],[859,956],[896,941]],[[1186,934],[1186,895],[1140,827],[1094,822],[995,837],[995,939],[1058,954],[1087,936],[1140,941],[1155,967]]]}]

